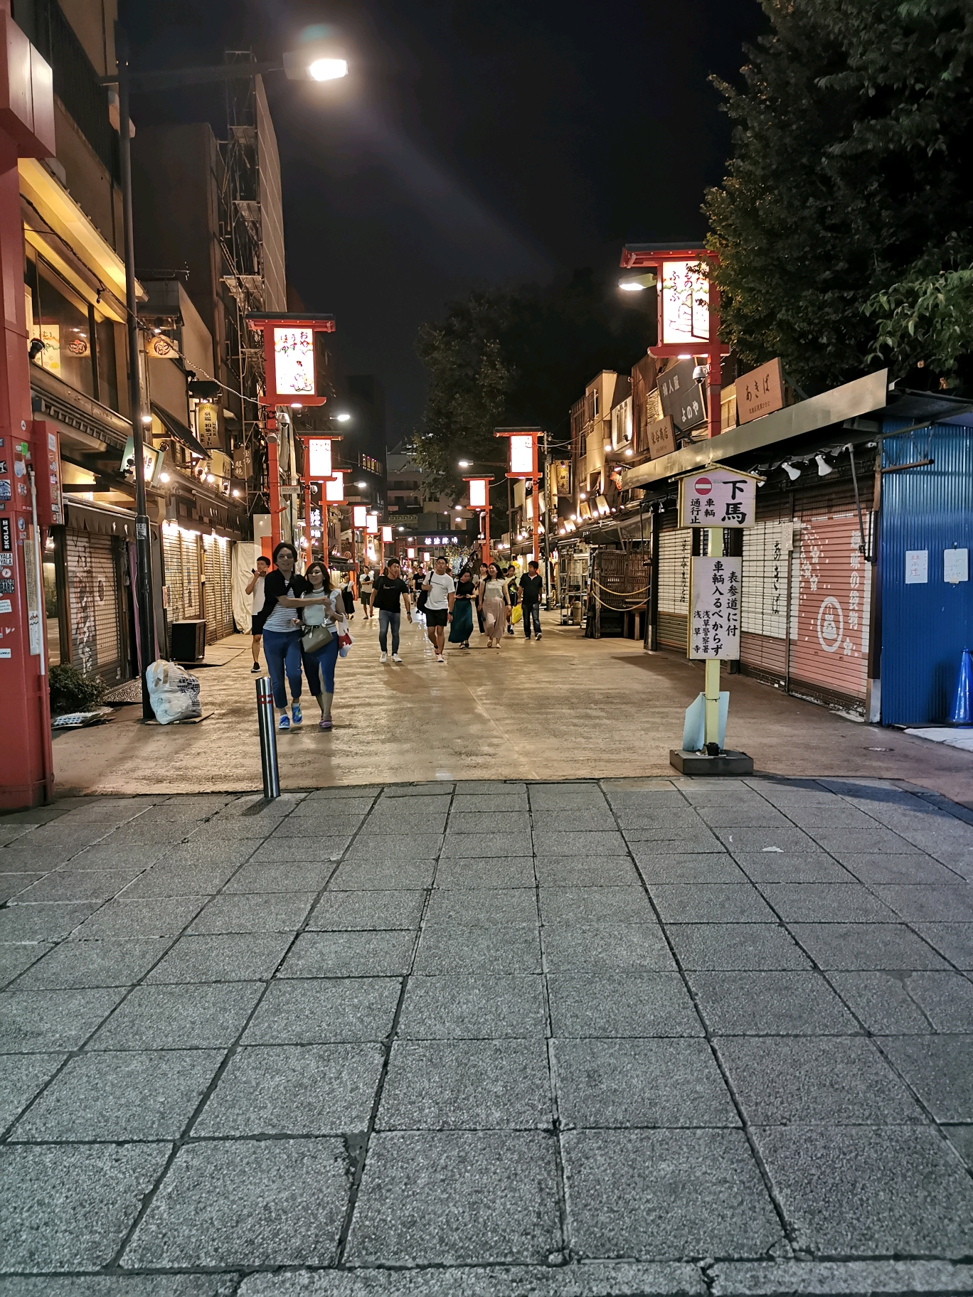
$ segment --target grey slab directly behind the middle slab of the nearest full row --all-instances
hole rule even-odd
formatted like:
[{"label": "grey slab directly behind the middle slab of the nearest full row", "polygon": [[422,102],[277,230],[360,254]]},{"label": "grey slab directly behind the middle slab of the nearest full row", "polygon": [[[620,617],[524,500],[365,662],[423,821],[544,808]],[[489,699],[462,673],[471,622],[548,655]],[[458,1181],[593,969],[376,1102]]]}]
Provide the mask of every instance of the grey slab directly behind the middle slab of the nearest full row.
[{"label": "grey slab directly behind the middle slab of the nearest full row", "polygon": [[397,1040],[376,1130],[550,1130],[542,1039]]}]

